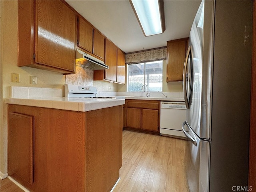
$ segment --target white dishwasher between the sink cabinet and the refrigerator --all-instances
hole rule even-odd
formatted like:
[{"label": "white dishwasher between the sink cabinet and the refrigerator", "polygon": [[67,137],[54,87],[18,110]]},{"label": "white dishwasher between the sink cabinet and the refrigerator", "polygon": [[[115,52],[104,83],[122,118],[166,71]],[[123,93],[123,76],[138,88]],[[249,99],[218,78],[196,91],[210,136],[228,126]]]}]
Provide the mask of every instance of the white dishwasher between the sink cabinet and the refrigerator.
[{"label": "white dishwasher between the sink cabinet and the refrigerator", "polygon": [[181,127],[184,120],[186,120],[184,102],[161,102],[160,135],[185,139]]}]

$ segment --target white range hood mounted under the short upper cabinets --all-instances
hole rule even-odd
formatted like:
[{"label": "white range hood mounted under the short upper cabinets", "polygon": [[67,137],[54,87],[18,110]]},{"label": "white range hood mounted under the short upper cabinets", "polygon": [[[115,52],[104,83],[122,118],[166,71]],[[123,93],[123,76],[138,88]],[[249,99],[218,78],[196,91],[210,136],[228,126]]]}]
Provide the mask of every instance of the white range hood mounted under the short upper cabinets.
[{"label": "white range hood mounted under the short upper cabinets", "polygon": [[92,70],[108,69],[109,67],[101,60],[76,49],[76,65]]}]

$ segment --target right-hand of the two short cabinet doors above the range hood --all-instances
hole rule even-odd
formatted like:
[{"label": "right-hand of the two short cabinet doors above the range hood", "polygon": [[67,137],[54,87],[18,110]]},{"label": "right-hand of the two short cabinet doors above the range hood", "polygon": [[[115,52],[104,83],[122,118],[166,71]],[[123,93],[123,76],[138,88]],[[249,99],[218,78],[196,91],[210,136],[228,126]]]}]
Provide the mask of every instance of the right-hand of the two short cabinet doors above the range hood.
[{"label": "right-hand of the two short cabinet doors above the range hood", "polygon": [[105,37],[98,31],[93,30],[93,54],[104,60],[105,54]]}]

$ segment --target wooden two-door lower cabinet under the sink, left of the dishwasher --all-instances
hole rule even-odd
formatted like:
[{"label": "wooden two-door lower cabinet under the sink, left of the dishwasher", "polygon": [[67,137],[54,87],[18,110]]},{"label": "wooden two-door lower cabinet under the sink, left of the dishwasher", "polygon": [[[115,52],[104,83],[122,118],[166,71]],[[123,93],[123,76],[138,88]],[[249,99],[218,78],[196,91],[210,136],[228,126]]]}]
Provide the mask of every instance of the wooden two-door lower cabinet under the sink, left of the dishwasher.
[{"label": "wooden two-door lower cabinet under the sink, left of the dishwasher", "polygon": [[160,134],[160,102],[126,100],[126,130]]}]

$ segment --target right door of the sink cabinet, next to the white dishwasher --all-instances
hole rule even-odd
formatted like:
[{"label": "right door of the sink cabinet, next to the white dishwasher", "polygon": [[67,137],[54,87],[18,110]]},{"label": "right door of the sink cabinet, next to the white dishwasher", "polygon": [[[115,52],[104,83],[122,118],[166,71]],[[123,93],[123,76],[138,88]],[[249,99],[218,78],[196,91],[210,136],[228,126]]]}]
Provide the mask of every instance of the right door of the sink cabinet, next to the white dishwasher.
[{"label": "right door of the sink cabinet, next to the white dishwasher", "polygon": [[142,129],[158,131],[158,110],[142,109]]}]

